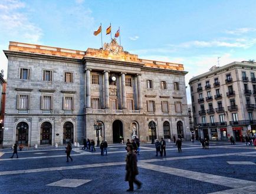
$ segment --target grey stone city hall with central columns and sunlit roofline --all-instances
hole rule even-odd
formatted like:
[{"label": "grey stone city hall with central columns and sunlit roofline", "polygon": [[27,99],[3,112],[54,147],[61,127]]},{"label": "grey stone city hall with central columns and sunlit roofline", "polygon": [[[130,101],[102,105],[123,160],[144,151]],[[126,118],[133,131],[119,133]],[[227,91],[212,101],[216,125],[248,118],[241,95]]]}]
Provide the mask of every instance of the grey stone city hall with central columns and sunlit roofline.
[{"label": "grey stone city hall with central columns and sunlit roofline", "polygon": [[190,139],[182,64],[143,60],[116,40],[87,51],[10,42],[4,146],[120,137]]}]

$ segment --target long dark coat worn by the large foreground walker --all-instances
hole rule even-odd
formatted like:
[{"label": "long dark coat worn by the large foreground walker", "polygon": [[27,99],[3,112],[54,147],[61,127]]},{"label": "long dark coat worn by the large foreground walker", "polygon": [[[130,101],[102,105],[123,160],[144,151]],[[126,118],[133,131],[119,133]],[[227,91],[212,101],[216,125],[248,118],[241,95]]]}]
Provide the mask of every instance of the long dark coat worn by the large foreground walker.
[{"label": "long dark coat worn by the large foreground walker", "polygon": [[137,168],[137,156],[133,151],[127,153],[126,156],[126,177],[125,180],[133,180],[136,175],[139,175]]}]

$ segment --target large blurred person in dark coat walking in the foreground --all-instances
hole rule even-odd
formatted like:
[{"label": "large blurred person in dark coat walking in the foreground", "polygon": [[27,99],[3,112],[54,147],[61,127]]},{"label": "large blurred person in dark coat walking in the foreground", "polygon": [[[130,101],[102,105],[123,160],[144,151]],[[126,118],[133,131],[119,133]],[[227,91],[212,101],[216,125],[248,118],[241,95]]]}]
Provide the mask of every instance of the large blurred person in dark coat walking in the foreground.
[{"label": "large blurred person in dark coat walking in the foreground", "polygon": [[137,185],[137,189],[140,189],[142,183],[136,179],[136,175],[139,175],[137,168],[137,156],[133,151],[131,144],[127,145],[127,156],[126,156],[126,177],[125,180],[129,182],[129,189],[127,192],[133,191],[133,183]]}]

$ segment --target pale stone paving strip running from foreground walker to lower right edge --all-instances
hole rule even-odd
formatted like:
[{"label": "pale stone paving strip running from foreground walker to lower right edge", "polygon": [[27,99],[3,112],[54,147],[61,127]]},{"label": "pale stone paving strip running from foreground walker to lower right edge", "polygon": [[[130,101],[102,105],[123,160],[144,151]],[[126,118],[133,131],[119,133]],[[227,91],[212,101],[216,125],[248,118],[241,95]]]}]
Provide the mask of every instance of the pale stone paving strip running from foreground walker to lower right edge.
[{"label": "pale stone paving strip running from foreground walker to lower right edge", "polygon": [[245,186],[255,185],[256,182],[231,177],[211,175],[207,173],[195,172],[191,170],[177,169],[173,167],[153,165],[150,163],[139,163],[139,167],[156,172],[167,173],[169,175],[186,177],[188,179],[199,180],[202,182],[212,183],[215,185],[227,186],[228,188],[242,188]]}]

